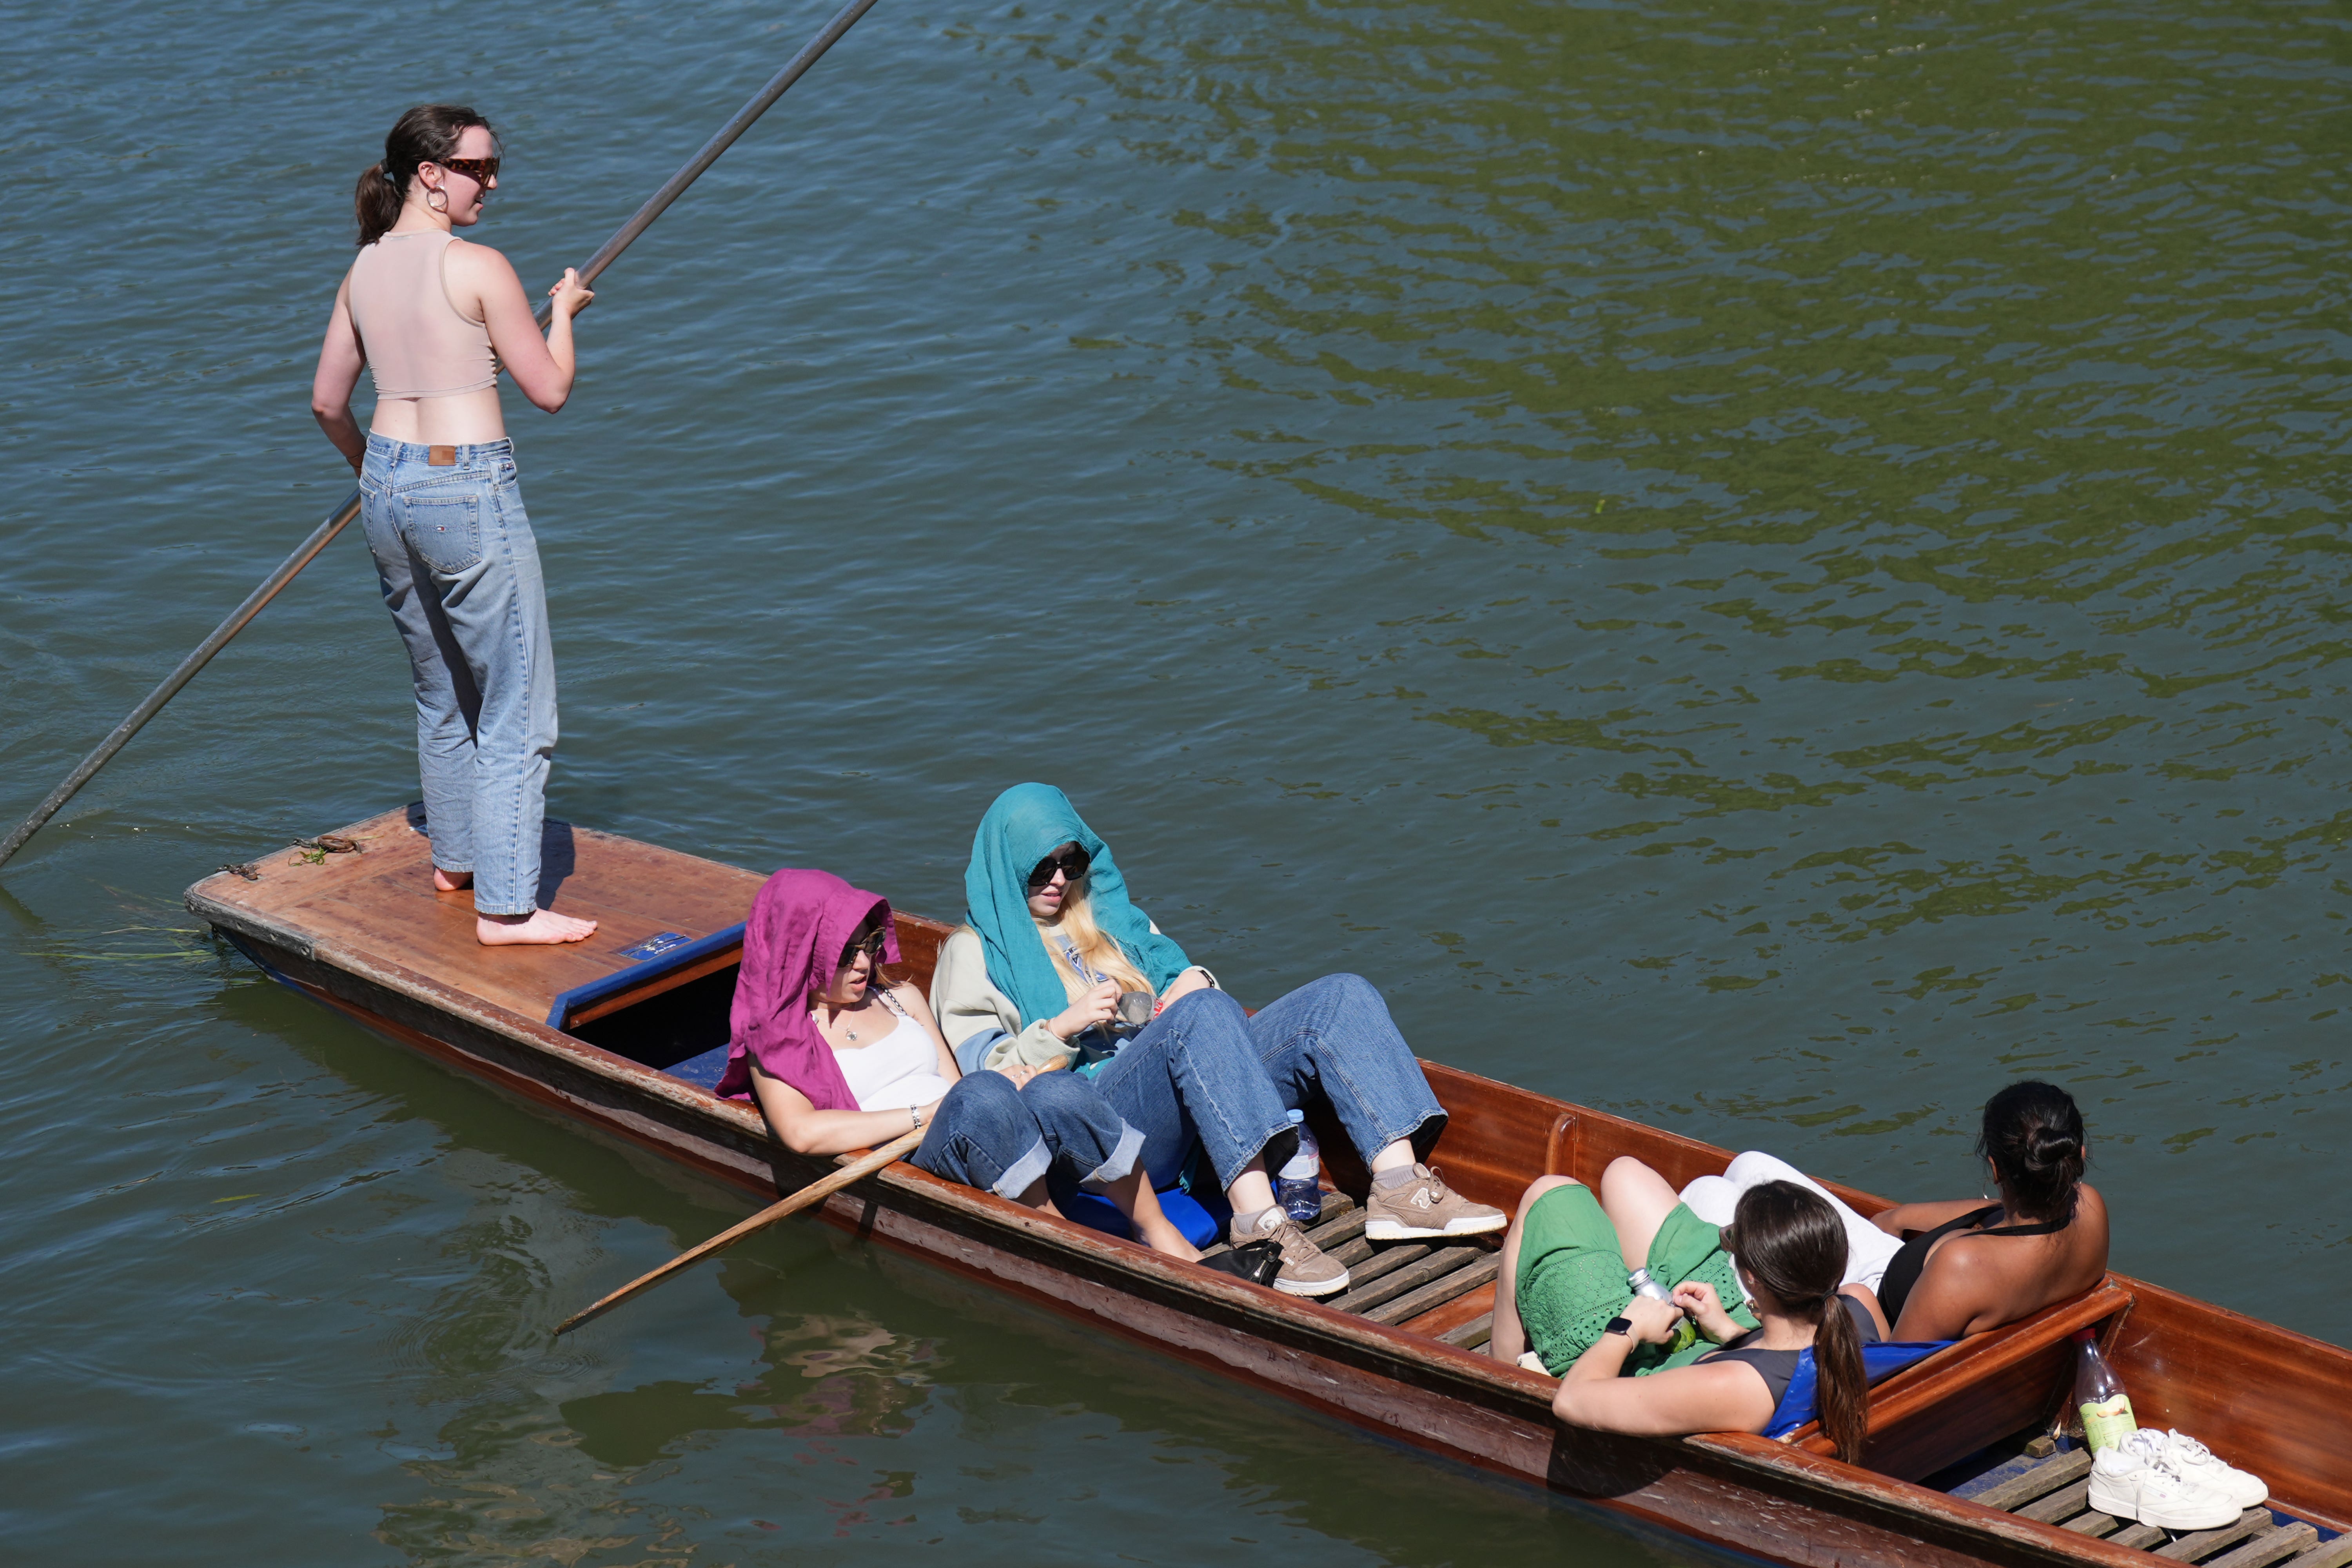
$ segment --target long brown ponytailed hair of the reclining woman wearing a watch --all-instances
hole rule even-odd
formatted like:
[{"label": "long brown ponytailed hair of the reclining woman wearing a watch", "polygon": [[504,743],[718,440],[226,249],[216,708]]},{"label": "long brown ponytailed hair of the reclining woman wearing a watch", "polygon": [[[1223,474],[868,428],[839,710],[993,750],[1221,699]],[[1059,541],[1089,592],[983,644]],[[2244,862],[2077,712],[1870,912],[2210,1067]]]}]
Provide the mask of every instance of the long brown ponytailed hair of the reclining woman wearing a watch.
[{"label": "long brown ponytailed hair of the reclining woman wearing a watch", "polygon": [[1811,1187],[1762,1182],[1731,1211],[1724,1251],[1783,1312],[1813,1319],[1813,1410],[1837,1458],[1860,1462],[1870,1436],[1870,1378],[1863,1333],[1837,1295],[1846,1276],[1846,1227],[1837,1211]]}]

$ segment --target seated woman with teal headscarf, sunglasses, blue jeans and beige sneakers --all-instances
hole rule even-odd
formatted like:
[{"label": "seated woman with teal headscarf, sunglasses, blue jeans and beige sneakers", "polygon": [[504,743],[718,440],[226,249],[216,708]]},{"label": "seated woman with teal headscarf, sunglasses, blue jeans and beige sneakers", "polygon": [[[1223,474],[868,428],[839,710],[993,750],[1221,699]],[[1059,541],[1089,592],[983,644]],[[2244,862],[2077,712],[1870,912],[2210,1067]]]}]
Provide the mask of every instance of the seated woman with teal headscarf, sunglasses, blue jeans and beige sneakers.
[{"label": "seated woman with teal headscarf, sunglasses, blue jeans and beige sneakers", "polygon": [[964,905],[969,924],[931,973],[931,1009],[964,1070],[1077,1051],[1080,1070],[1143,1133],[1155,1187],[1176,1182],[1197,1147],[1232,1204],[1232,1244],[1279,1244],[1277,1291],[1348,1288],[1348,1269],[1275,1206],[1268,1175],[1296,1147],[1291,1112],[1317,1100],[1371,1171],[1369,1239],[1510,1222],[1421,1164],[1446,1112],[1381,992],[1324,976],[1249,1016],[1129,900],[1110,846],[1061,790],[1014,785],[988,806]]}]

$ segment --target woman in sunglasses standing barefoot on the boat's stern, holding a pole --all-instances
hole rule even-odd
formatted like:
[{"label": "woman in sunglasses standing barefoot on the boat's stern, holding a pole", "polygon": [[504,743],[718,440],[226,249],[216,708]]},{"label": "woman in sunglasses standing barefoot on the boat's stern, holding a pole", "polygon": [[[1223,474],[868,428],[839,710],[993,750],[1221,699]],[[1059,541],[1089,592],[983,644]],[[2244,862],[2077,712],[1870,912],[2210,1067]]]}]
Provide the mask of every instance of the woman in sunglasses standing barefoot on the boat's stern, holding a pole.
[{"label": "woman in sunglasses standing barefoot on the boat's stern, holding a pole", "polygon": [[[595,294],[564,270],[546,339],[506,256],[456,237],[499,188],[499,139],[459,103],[393,122],[360,176],[360,256],[334,292],[310,414],[360,475],[360,517],[416,684],[416,762],[433,889],[473,889],[475,940],[576,943],[539,907],[555,755],[548,595],[499,409],[499,371],[553,414],[572,395],[572,317]],[[374,367],[360,433],[350,395]]]}]

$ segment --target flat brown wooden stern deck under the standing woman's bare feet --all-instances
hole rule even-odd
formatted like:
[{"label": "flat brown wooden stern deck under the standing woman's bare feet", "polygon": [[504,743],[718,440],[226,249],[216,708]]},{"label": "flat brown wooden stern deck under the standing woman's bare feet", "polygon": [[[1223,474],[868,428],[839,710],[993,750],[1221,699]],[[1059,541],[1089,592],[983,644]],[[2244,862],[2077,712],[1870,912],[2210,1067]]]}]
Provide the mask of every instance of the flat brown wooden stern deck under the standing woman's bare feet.
[{"label": "flat brown wooden stern deck under the standing woman's bare feet", "polygon": [[633,966],[621,957],[649,936],[710,936],[743,919],[762,877],[675,849],[550,820],[541,842],[541,905],[597,922],[586,943],[485,947],[473,938],[473,893],[433,891],[430,842],[412,813],[386,811],[346,827],[360,853],[310,865],[294,849],[252,860],[259,882],[212,877],[205,893],[313,945],[430,973],[445,985],[529,1020],[567,990]]}]

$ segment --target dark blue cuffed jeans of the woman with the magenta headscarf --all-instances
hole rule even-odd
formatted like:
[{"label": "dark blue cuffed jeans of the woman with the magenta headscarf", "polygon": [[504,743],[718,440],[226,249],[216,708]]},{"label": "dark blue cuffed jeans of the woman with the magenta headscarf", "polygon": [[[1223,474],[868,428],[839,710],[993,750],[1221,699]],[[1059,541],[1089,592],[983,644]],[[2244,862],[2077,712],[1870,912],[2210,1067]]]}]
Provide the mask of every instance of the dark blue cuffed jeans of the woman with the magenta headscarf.
[{"label": "dark blue cuffed jeans of the woman with the magenta headscarf", "polygon": [[969,1072],[948,1088],[915,1147],[915,1164],[950,1182],[1018,1199],[1056,1161],[1101,1187],[1136,1168],[1143,1133],[1075,1072],[1040,1072],[1023,1088],[1002,1072]]}]

